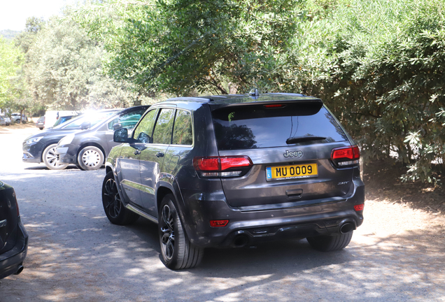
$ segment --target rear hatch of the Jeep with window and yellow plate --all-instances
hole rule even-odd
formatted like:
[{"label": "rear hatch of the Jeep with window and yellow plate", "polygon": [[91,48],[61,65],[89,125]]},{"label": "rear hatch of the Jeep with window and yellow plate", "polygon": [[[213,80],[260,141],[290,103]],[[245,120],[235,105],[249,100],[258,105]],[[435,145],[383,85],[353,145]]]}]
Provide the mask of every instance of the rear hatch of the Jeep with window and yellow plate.
[{"label": "rear hatch of the Jeep with window and yellow plate", "polygon": [[351,188],[351,165],[339,168],[331,159],[332,150],[351,143],[321,101],[244,103],[214,108],[212,116],[220,161],[248,157],[252,163],[239,176],[227,173],[236,166],[221,170],[230,206],[303,206],[342,199]]}]

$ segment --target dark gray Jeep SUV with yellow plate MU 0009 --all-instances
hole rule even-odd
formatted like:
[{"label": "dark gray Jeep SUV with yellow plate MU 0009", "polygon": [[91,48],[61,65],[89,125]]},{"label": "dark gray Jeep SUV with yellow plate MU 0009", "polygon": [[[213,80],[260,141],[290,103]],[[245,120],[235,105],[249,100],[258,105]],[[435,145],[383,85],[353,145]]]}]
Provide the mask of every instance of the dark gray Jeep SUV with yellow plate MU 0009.
[{"label": "dark gray Jeep SUV with yellow plate MU 0009", "polygon": [[204,247],[307,238],[340,250],[363,221],[360,151],[320,99],[302,94],[176,98],[151,106],[106,160],[114,224],[159,225],[164,264]]}]

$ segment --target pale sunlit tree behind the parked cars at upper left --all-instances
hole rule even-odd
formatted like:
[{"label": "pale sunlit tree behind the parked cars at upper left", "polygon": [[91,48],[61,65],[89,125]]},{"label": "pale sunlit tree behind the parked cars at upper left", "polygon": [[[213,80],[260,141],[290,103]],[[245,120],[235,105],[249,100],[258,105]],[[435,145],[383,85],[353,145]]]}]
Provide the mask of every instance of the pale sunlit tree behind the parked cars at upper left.
[{"label": "pale sunlit tree behind the parked cars at upper left", "polygon": [[128,83],[103,73],[101,43],[76,22],[54,17],[40,29],[38,23],[29,25],[36,36],[30,45],[27,38],[19,45],[27,49],[24,73],[34,101],[69,110],[127,107],[143,101]]}]

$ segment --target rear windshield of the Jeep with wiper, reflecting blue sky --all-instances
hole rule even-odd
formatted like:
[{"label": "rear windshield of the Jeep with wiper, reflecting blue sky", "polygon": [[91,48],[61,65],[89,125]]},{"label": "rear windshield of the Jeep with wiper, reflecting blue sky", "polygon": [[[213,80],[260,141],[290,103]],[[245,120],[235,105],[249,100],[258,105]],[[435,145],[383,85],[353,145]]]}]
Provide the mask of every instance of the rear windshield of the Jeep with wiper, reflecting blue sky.
[{"label": "rear windshield of the Jeep with wiper, reflecting blue sky", "polygon": [[[213,110],[213,125],[219,150],[273,148],[298,144],[347,141],[334,117],[320,103],[263,105]],[[311,139],[315,138],[315,139]],[[303,139],[301,139],[303,138]],[[304,138],[309,138],[304,140]]]}]

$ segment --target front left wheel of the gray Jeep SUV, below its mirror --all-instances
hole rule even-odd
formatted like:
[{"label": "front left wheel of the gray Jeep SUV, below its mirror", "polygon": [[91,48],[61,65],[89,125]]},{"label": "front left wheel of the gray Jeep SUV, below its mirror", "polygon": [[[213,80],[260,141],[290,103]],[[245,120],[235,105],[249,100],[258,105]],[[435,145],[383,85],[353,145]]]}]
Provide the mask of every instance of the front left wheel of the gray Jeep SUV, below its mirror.
[{"label": "front left wheel of the gray Jeep SUV, below its mirror", "polygon": [[108,172],[104,178],[104,183],[102,184],[102,205],[104,206],[106,217],[112,224],[132,224],[139,218],[139,215],[125,208],[122,203],[113,172]]}]

